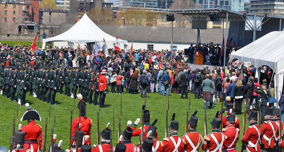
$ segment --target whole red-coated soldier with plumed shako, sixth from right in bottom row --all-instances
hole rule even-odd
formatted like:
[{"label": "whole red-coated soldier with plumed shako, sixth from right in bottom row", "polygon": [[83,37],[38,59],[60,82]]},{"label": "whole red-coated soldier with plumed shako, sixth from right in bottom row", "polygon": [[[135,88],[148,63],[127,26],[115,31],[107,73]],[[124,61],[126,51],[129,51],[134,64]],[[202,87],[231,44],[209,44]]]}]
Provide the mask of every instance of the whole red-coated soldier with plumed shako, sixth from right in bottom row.
[{"label": "whole red-coated soldier with plumed shako, sixth from right in bottom row", "polygon": [[196,113],[197,111],[195,111],[187,121],[188,133],[185,133],[181,138],[184,141],[183,149],[186,152],[199,152],[199,148],[203,143],[202,135],[196,130],[198,122],[198,118],[195,116]]}]

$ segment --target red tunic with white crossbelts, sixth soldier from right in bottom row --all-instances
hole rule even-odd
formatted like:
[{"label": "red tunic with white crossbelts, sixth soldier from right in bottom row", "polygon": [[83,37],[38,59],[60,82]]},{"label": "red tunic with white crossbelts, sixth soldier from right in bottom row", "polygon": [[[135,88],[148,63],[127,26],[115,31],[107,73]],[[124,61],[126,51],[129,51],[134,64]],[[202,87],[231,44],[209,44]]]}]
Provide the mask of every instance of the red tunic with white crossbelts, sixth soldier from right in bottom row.
[{"label": "red tunic with white crossbelts, sixth soldier from right in bottom row", "polygon": [[[191,152],[193,151],[193,147],[196,148],[196,151],[193,152],[199,152],[199,148],[201,144],[203,143],[202,135],[196,131],[196,129],[188,130],[189,132],[184,134],[181,139],[184,140],[184,150],[185,152]],[[190,141],[191,141],[191,145]]]}]

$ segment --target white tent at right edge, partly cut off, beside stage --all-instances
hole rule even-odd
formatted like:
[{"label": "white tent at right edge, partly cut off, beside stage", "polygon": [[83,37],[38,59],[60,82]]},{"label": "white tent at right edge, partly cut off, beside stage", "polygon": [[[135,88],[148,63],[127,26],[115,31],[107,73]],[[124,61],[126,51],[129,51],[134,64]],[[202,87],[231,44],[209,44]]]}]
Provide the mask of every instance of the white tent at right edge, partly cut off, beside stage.
[{"label": "white tent at right edge, partly cut off, beside stage", "polygon": [[[231,61],[238,59],[240,63],[250,61],[258,69],[268,65],[274,72],[275,97],[279,101],[284,79],[284,31],[270,32],[253,43],[239,49],[231,55]],[[259,69],[256,76],[259,76]],[[270,83],[270,82],[269,82]]]}]

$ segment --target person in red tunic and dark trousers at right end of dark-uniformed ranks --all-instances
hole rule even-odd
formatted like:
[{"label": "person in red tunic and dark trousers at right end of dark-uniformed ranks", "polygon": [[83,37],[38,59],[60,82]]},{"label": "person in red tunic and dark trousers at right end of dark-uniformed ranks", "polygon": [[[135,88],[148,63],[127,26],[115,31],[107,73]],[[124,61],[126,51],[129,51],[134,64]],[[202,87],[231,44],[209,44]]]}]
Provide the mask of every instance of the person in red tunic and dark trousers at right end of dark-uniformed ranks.
[{"label": "person in red tunic and dark trousers at right end of dark-uniformed ranks", "polygon": [[100,78],[99,78],[99,91],[100,91],[100,107],[101,108],[106,108],[104,106],[104,100],[105,100],[105,95],[106,95],[106,70],[102,70]]}]

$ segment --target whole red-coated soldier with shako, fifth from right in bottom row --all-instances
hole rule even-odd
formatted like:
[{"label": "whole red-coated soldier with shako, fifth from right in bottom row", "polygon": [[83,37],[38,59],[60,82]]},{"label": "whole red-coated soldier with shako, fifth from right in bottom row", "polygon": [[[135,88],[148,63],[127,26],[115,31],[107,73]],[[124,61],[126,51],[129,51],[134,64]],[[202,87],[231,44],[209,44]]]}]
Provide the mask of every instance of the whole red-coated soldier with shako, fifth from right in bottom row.
[{"label": "whole red-coated soldier with shako, fifth from right in bottom row", "polygon": [[[227,104],[228,106],[228,104]],[[204,144],[202,150],[207,152],[222,152],[223,143],[225,140],[224,134],[220,131],[221,119],[218,118],[219,111],[215,118],[210,122],[212,131],[204,137]]]}]

